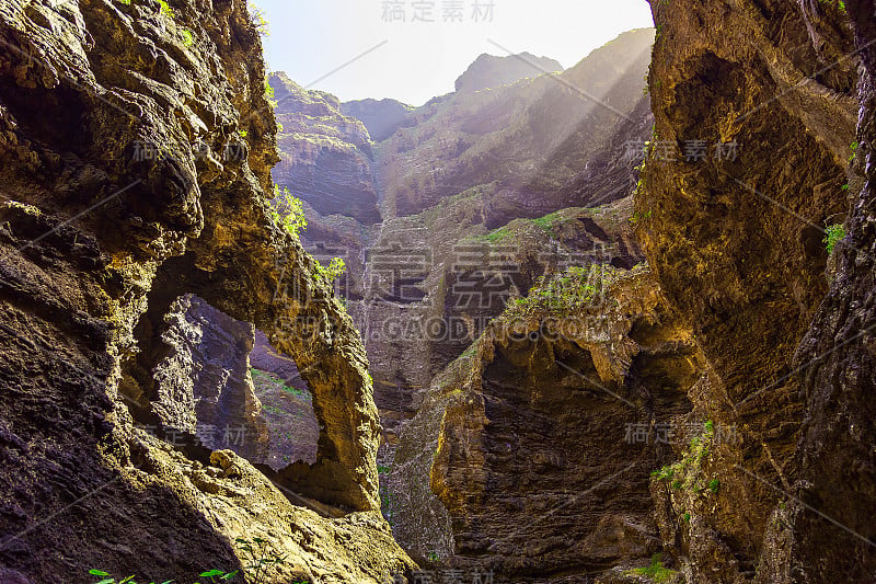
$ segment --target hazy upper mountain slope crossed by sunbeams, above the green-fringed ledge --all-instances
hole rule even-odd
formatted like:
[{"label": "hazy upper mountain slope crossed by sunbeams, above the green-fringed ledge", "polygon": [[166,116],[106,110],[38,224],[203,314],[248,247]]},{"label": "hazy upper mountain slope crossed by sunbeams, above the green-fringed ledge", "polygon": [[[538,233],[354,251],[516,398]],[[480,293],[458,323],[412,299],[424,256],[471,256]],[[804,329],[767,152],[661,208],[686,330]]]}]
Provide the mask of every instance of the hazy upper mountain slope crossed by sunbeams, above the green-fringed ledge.
[{"label": "hazy upper mountain slope crossed by sunbeams, above the green-fringed ledge", "polygon": [[[562,73],[460,91],[418,108],[414,127],[380,145],[384,217],[415,215],[479,185],[491,185],[491,227],[588,205],[592,169],[622,170],[619,146],[643,137],[653,42],[653,30],[632,31]],[[629,167],[623,172],[632,179]],[[625,196],[627,186],[600,193],[600,203]]]}]

